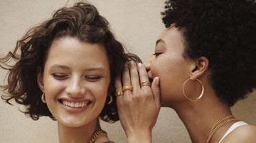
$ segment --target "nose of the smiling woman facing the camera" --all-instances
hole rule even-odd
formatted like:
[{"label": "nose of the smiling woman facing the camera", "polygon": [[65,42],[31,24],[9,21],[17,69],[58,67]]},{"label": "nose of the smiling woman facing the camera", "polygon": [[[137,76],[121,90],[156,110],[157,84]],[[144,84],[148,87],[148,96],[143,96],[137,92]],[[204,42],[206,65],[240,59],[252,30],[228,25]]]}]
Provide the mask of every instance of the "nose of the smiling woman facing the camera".
[{"label": "nose of the smiling woman facing the camera", "polygon": [[66,87],[66,92],[70,96],[80,96],[85,94],[85,87],[79,79],[72,79]]}]

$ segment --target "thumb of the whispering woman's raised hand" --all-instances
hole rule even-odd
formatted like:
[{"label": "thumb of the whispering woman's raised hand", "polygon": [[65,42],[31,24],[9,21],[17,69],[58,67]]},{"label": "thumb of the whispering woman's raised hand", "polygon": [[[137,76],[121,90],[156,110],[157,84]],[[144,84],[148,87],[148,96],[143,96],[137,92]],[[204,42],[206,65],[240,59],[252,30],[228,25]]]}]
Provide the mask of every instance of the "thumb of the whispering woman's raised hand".
[{"label": "thumb of the whispering woman's raised hand", "polygon": [[155,101],[155,106],[157,109],[160,109],[161,107],[161,102],[160,102],[160,79],[159,77],[155,77],[155,79],[152,82],[152,92],[153,92],[153,97]]}]

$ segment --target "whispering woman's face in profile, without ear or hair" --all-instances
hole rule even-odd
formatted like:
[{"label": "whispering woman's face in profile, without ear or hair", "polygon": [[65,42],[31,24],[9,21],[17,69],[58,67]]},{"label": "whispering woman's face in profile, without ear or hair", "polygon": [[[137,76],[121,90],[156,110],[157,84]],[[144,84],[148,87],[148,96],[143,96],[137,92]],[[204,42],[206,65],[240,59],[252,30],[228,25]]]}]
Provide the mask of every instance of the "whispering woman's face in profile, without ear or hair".
[{"label": "whispering woman's face in profile, without ear or hair", "polygon": [[182,32],[171,26],[160,34],[154,56],[145,63],[150,78],[160,77],[162,106],[186,99],[182,87],[189,79],[192,61],[185,59],[183,52]]}]

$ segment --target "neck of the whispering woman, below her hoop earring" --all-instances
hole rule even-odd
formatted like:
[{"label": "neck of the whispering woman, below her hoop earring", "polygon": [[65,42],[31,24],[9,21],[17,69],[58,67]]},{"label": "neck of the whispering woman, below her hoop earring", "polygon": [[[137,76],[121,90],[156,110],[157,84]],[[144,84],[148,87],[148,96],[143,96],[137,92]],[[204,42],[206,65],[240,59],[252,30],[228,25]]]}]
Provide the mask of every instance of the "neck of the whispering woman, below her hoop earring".
[{"label": "neck of the whispering woman, below her hoop earring", "polygon": [[[223,117],[231,115],[227,104],[221,102],[216,95],[205,93],[198,101],[181,101],[172,104],[172,107],[188,129],[192,142],[205,143],[212,126]],[[231,123],[227,123],[216,131],[212,142],[217,142],[228,130]]]}]

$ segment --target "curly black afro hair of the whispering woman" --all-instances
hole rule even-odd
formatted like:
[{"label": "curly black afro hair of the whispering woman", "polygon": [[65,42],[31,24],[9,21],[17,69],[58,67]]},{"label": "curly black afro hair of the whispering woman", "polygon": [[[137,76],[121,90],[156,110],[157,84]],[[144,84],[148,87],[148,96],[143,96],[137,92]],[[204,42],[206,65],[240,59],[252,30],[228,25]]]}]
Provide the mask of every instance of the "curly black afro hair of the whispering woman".
[{"label": "curly black afro hair of the whispering woman", "polygon": [[209,59],[210,82],[229,106],[256,88],[254,0],[169,0],[163,23],[184,29],[184,58]]}]

